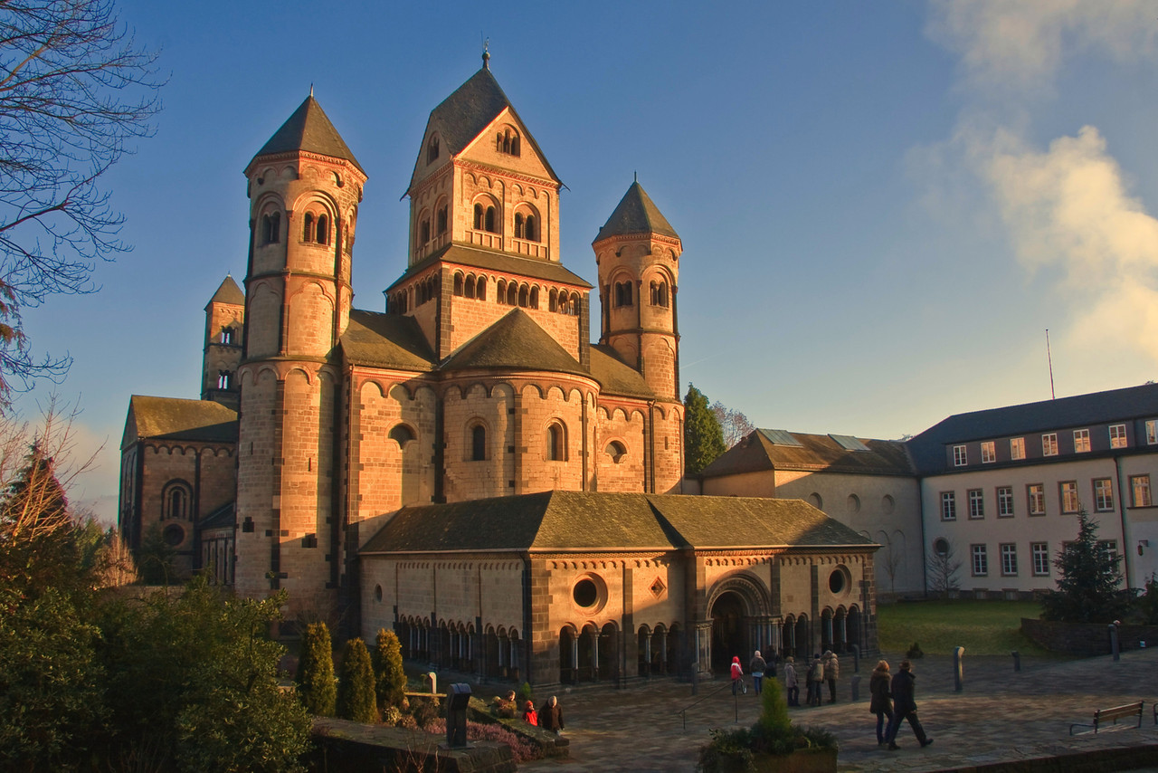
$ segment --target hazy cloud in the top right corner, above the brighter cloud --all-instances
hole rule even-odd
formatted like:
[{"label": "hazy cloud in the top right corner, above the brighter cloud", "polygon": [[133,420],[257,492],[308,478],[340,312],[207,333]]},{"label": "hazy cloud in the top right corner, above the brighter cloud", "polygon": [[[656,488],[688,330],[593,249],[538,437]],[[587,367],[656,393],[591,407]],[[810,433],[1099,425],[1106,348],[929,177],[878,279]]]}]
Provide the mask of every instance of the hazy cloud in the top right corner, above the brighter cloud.
[{"label": "hazy cloud in the top right corner, above the brighter cloud", "polygon": [[926,34],[961,54],[972,85],[1048,86],[1067,56],[1095,51],[1117,61],[1153,52],[1151,0],[933,0]]}]

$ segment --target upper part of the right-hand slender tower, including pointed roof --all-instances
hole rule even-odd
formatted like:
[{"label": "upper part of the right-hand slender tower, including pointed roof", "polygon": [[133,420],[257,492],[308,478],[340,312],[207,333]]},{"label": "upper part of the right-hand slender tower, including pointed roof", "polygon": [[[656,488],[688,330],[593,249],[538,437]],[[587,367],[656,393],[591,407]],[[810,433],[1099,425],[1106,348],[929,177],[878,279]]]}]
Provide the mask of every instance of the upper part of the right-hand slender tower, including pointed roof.
[{"label": "upper part of the right-hand slender tower, including pointed roof", "polygon": [[643,373],[657,398],[679,402],[679,234],[637,181],[592,247],[599,265],[599,342]]}]

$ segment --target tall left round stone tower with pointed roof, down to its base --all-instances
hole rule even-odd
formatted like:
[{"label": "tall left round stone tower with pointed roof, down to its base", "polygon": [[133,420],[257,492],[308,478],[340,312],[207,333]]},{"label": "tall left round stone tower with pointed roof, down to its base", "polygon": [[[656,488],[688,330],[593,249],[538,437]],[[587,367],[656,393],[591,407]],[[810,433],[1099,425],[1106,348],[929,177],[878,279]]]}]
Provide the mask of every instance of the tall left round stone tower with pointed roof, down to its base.
[{"label": "tall left round stone tower with pointed roof, down to its base", "polygon": [[329,615],[345,566],[336,344],[366,174],[310,94],[245,177],[236,589],[286,588],[291,618]]}]

